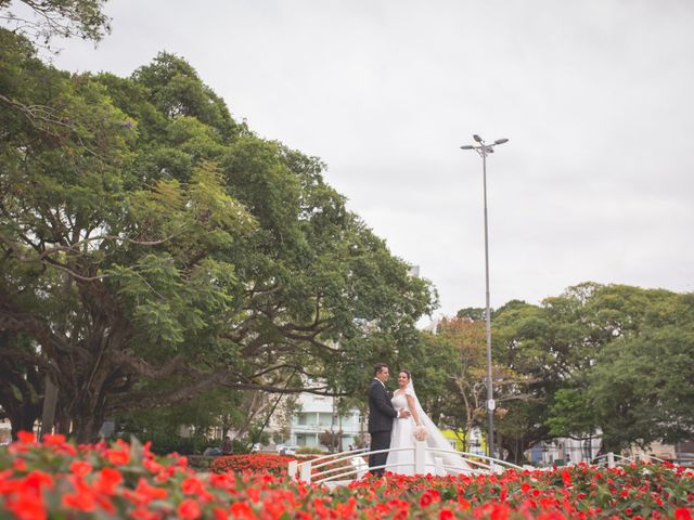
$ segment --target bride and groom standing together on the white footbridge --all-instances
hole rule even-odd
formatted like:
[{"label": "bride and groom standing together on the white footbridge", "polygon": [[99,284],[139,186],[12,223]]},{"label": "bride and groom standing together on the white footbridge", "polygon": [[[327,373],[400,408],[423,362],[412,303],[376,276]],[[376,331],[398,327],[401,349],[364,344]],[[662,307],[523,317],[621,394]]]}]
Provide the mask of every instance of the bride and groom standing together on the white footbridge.
[{"label": "bride and groom standing together on the white footbridge", "polygon": [[[369,433],[371,451],[396,450],[373,454],[369,457],[369,467],[373,474],[388,471],[401,474],[414,474],[414,443],[424,440],[426,447],[452,450],[436,425],[422,410],[414,392],[412,375],[409,370],[398,373],[398,389],[388,395],[386,381],[390,377],[387,365],[374,366],[374,376],[369,387]],[[397,450],[397,448],[408,450]],[[460,473],[470,469],[463,459],[453,453],[427,451],[425,454],[427,473]]]}]

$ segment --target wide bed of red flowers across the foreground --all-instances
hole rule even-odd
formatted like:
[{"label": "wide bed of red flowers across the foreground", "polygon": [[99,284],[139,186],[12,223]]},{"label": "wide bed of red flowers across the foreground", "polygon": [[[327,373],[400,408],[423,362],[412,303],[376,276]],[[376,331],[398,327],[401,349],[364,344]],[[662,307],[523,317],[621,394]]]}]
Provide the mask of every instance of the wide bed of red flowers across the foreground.
[{"label": "wide bed of red flowers across the foreground", "polygon": [[[224,464],[241,460],[235,458]],[[0,518],[691,520],[694,503],[694,473],[671,465],[388,474],[330,491],[268,472],[275,467],[270,458],[288,457],[248,458],[256,461],[240,471],[203,477],[188,468],[185,457],[157,458],[137,442],[74,446],[53,435],[39,445],[23,434],[0,450]],[[268,468],[256,472],[254,465],[262,464]]]}]

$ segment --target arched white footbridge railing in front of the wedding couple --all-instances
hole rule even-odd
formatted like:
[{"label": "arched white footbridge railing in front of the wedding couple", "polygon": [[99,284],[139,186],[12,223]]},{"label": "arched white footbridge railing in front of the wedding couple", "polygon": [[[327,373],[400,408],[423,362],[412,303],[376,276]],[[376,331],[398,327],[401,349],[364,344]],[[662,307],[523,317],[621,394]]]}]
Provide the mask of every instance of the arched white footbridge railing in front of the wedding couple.
[{"label": "arched white footbridge railing in front of the wedding couple", "polygon": [[[411,463],[384,464],[381,466],[369,467],[368,459],[370,455],[393,452],[413,452],[413,460]],[[430,461],[427,461],[427,453],[430,455]],[[461,469],[460,466],[446,464],[444,457],[440,457],[440,455],[447,454],[460,457],[460,460],[465,463],[466,467]],[[439,455],[439,457],[436,457],[436,455]],[[349,464],[345,465],[347,461]],[[336,464],[337,467],[335,467]],[[465,474],[494,473],[510,468],[523,470],[520,466],[516,466],[498,458],[468,452],[459,452],[452,448],[439,450],[435,447],[427,447],[425,442],[416,441],[414,446],[410,447],[394,447],[376,451],[356,450],[351,452],[324,455],[304,463],[292,460],[288,464],[287,473],[290,477],[307,483],[323,483],[361,478],[361,476],[367,471],[374,469],[388,469],[397,472],[397,468],[401,466],[409,466],[410,468],[414,466],[413,469],[415,474],[435,474],[441,470],[450,473]]]}]

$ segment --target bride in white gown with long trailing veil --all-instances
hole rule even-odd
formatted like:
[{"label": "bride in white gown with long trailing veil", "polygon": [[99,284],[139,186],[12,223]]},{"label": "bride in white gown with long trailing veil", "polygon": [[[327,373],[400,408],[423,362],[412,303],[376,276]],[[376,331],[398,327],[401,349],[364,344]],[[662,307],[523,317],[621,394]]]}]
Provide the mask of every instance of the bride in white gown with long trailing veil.
[{"label": "bride in white gown with long trailing veil", "polygon": [[[436,427],[434,421],[424,413],[416,399],[412,375],[409,370],[400,370],[398,375],[399,388],[393,394],[393,407],[395,410],[408,410],[412,415],[407,419],[394,421],[390,434],[390,452],[386,461],[386,469],[394,473],[414,473],[414,450],[393,451],[398,447],[414,447],[415,433],[426,429],[426,447],[438,450],[452,450],[450,443]],[[416,432],[415,432],[416,428]],[[460,455],[445,452],[425,452],[425,473],[447,474],[460,473],[470,470],[470,466]],[[394,466],[391,466],[394,465]]]}]

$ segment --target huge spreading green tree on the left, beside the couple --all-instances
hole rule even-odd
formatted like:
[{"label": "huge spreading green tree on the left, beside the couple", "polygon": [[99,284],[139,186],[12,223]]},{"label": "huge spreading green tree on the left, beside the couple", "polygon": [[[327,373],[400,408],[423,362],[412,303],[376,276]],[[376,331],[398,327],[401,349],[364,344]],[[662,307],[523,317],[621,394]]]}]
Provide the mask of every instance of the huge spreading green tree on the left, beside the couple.
[{"label": "huge spreading green tree on the left, beside the couple", "polygon": [[177,56],[70,76],[0,38],[0,330],[30,343],[2,348],[59,388],[63,431],[297,374],[344,392],[374,341],[415,347],[428,284],[320,160],[235,122]]}]

